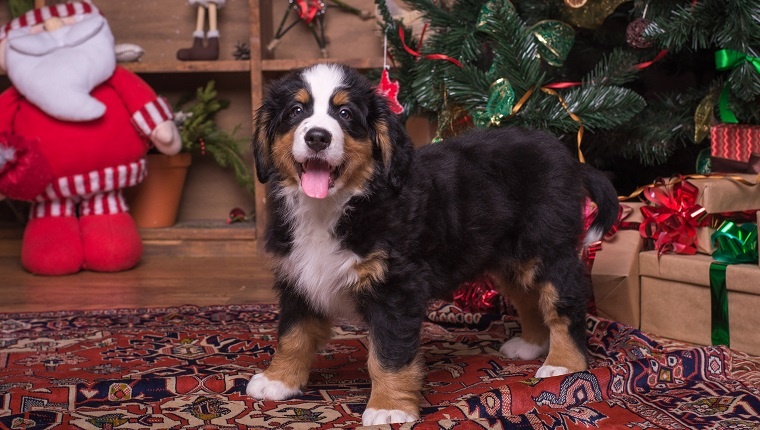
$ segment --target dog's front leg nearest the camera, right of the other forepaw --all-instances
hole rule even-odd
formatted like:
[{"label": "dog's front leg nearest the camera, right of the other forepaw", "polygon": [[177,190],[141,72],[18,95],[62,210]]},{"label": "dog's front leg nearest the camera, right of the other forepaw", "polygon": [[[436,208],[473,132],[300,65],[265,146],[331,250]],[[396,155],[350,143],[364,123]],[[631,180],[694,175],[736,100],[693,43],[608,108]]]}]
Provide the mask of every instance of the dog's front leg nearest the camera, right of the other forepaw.
[{"label": "dog's front leg nearest the camera, right of the other forepaw", "polygon": [[362,414],[364,425],[416,421],[420,415],[424,366],[418,352],[422,320],[397,319],[392,312],[382,312],[368,321],[367,367],[372,392]]}]

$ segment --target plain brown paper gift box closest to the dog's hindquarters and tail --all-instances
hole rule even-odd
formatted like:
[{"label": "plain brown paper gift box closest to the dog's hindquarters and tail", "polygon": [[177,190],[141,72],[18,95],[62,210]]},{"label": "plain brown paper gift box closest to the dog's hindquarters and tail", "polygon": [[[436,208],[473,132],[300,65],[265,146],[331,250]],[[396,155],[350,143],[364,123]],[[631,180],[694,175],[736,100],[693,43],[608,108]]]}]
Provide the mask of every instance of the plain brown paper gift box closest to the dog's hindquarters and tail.
[{"label": "plain brown paper gift box closest to the dog's hindquarters and tail", "polygon": [[[632,208],[624,221],[641,222],[642,203],[623,203]],[[641,297],[639,257],[643,239],[638,230],[618,230],[602,242],[591,267],[594,302],[599,316],[639,327]]]}]

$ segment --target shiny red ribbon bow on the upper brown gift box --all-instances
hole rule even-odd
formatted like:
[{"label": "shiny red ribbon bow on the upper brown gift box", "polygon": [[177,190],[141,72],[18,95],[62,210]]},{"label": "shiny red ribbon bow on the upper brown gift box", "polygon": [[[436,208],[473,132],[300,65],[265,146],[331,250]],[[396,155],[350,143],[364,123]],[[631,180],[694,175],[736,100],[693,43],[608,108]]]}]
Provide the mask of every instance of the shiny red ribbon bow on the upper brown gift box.
[{"label": "shiny red ribbon bow on the upper brown gift box", "polygon": [[658,255],[696,254],[697,227],[707,218],[705,208],[697,204],[698,194],[699,189],[683,178],[670,184],[658,179],[644,189],[642,195],[651,205],[641,208],[644,222],[639,233],[654,239]]}]

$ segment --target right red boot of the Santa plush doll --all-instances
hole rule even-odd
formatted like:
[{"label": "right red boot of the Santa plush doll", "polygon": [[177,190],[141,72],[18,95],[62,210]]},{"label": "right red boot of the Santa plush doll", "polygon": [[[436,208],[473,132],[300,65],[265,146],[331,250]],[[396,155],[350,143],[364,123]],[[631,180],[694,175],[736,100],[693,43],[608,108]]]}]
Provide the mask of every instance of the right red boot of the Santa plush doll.
[{"label": "right red boot of the Santa plush doll", "polygon": [[79,218],[79,226],[85,269],[120,272],[140,262],[142,239],[128,213],[84,215]]}]

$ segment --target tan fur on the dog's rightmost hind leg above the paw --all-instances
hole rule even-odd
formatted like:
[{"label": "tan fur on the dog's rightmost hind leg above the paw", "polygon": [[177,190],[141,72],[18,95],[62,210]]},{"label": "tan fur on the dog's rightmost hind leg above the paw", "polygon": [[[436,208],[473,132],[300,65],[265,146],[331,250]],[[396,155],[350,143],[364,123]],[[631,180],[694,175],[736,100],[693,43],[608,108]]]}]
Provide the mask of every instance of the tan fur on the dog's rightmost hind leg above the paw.
[{"label": "tan fur on the dog's rightmost hind leg above the paw", "polygon": [[550,332],[549,355],[544,364],[564,367],[570,372],[588,369],[585,351],[578,349],[570,335],[570,320],[557,313],[557,287],[547,282],[540,287],[539,293],[538,306]]}]

